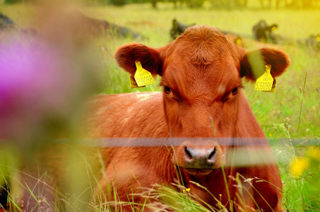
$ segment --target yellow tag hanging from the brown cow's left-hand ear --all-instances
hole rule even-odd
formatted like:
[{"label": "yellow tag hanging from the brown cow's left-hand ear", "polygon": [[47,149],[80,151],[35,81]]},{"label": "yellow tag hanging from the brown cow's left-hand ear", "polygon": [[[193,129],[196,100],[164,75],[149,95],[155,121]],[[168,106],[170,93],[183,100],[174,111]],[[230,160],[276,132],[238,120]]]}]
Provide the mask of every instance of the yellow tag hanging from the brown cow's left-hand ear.
[{"label": "yellow tag hanging from the brown cow's left-hand ear", "polygon": [[153,76],[151,75],[151,73],[142,68],[141,62],[136,61],[136,73],[134,74],[134,78],[130,76],[130,83],[131,88],[139,88],[153,84],[155,83],[155,81],[153,81]]}]

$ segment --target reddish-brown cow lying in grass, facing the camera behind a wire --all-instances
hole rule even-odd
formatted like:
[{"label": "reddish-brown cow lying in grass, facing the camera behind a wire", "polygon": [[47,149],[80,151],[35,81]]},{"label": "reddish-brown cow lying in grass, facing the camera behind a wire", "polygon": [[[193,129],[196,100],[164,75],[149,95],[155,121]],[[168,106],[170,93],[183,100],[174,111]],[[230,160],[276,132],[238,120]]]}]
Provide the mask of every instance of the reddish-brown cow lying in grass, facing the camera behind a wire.
[{"label": "reddish-brown cow lying in grass, facing the camera behind a wire", "polygon": [[[90,136],[169,137],[181,142],[168,148],[160,143],[150,146],[150,139],[139,146],[106,148],[105,177],[100,181],[106,195],[100,201],[114,200],[117,189],[117,202],[134,199],[143,204],[146,199],[131,194],[176,182],[177,168],[184,186],[215,208],[216,198],[234,211],[282,211],[278,167],[244,97],[242,77],[255,81],[261,73],[251,66],[264,71],[265,63],[271,64],[273,78],[280,76],[290,64],[285,52],[267,48],[247,52],[219,30],[201,25],[188,28],[165,47],[131,43],[119,47],[114,57],[131,75],[135,61],[141,61],[144,69],[162,76],[163,92],[99,95],[91,105]],[[225,143],[217,138],[225,138]],[[240,177],[243,189],[235,181],[237,173],[249,179],[244,182]]]}]

